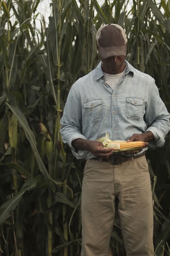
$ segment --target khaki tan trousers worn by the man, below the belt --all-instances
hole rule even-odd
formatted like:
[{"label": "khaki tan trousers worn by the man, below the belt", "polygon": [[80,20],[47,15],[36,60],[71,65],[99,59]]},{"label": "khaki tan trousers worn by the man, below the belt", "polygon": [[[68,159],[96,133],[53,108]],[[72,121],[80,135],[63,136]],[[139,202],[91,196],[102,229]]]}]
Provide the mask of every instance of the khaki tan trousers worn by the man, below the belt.
[{"label": "khaki tan trousers worn by the man, below the belt", "polygon": [[81,256],[108,256],[115,197],[127,256],[153,256],[153,204],[145,156],[112,165],[86,162]]}]

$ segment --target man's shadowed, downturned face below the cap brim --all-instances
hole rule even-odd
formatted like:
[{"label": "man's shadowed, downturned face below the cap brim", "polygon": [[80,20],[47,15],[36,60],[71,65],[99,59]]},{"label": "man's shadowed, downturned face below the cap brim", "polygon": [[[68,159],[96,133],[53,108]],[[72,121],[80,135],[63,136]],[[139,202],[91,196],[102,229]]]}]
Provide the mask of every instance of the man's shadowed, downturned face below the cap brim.
[{"label": "man's shadowed, downturned face below the cap brim", "polygon": [[103,59],[102,70],[106,74],[119,74],[122,73],[125,69],[125,56],[111,56],[108,58]]}]

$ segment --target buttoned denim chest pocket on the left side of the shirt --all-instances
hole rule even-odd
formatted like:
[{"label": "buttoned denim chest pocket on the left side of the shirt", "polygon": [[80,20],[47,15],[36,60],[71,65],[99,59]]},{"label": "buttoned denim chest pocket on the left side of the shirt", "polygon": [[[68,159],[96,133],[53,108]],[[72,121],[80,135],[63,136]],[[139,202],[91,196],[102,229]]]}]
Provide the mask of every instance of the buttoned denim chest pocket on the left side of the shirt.
[{"label": "buttoned denim chest pocket on the left side of the shirt", "polygon": [[90,122],[100,122],[103,118],[102,99],[95,99],[83,103],[86,117]]}]

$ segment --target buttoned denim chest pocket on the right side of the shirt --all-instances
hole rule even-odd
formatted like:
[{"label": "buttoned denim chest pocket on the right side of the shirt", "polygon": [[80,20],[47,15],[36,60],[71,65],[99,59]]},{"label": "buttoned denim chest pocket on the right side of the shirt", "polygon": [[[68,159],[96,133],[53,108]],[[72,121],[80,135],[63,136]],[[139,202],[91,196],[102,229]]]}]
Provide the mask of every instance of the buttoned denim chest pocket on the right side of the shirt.
[{"label": "buttoned denim chest pocket on the right side of the shirt", "polygon": [[138,122],[144,115],[144,100],[134,97],[126,97],[126,118]]}]

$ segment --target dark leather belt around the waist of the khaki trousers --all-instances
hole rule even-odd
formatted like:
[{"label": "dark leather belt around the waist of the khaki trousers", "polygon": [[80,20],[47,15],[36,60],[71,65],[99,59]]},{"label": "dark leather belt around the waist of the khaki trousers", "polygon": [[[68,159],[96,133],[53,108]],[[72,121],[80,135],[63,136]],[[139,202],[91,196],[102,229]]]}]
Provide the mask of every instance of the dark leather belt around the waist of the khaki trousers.
[{"label": "dark leather belt around the waist of the khaki trousers", "polygon": [[102,158],[102,157],[96,157],[92,158],[92,160],[97,160],[100,162],[110,162],[113,165],[119,165],[123,162],[132,161],[133,159],[137,159],[141,156],[145,155],[145,151],[141,153],[140,155],[131,155],[131,156],[124,156],[124,155],[111,155],[108,159]]}]

